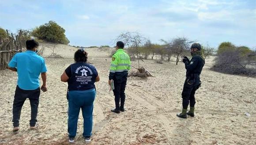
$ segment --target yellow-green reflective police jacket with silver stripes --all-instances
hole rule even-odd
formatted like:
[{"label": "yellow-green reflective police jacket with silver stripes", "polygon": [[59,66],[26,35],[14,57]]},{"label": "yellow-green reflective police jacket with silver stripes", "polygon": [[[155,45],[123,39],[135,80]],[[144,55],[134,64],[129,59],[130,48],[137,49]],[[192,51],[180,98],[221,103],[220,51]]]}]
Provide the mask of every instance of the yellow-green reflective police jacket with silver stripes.
[{"label": "yellow-green reflective police jacket with silver stripes", "polygon": [[124,72],[131,69],[131,60],[127,53],[123,49],[118,49],[112,56],[112,62],[110,65],[110,72]]}]

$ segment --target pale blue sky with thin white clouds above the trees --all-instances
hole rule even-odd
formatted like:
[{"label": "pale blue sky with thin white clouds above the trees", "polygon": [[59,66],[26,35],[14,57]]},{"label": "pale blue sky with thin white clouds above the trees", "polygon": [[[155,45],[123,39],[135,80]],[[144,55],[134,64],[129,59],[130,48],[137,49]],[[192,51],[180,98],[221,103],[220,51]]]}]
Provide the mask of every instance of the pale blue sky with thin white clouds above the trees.
[{"label": "pale blue sky with thin white clouds above the trees", "polygon": [[152,43],[187,37],[256,48],[256,0],[0,0],[0,27],[15,33],[55,21],[70,45],[114,46],[120,33]]}]

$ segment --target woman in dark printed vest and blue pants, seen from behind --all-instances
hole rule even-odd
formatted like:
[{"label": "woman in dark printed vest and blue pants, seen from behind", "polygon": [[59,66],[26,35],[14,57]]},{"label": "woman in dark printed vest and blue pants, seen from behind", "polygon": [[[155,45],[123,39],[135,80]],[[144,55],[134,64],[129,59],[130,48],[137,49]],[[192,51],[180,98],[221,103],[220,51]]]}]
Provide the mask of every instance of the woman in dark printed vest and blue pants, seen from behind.
[{"label": "woman in dark printed vest and blue pants, seen from behind", "polygon": [[93,102],[95,82],[100,80],[93,65],[87,64],[87,52],[79,49],[75,52],[75,63],[69,65],[60,80],[68,82],[68,133],[69,142],[74,142],[80,108],[83,113],[83,137],[90,141],[92,131]]}]

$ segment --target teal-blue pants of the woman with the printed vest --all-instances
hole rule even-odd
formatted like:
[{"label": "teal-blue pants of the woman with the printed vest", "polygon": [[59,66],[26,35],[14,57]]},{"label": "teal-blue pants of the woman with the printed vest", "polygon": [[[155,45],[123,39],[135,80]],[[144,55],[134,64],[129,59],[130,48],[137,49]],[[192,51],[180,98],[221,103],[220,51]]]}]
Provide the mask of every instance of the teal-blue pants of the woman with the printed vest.
[{"label": "teal-blue pants of the woman with the printed vest", "polygon": [[82,109],[83,114],[83,136],[91,136],[95,95],[95,89],[68,91],[68,134],[70,138],[73,138],[76,135],[80,108]]}]

